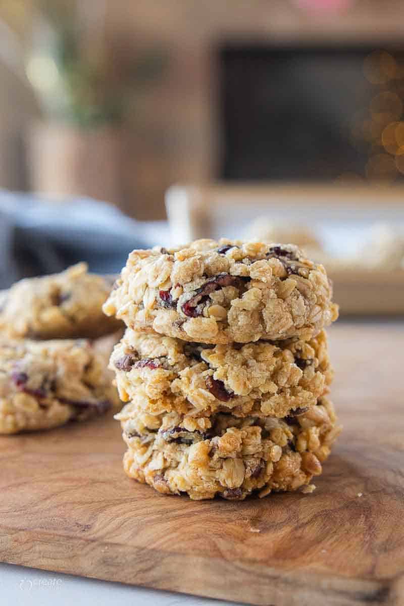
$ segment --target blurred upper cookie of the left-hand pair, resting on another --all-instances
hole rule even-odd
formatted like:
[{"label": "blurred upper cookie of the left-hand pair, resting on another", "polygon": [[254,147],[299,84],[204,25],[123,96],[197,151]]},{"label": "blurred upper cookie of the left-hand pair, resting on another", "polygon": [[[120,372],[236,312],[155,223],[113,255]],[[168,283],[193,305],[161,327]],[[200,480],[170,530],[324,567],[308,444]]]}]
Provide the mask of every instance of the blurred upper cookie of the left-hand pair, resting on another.
[{"label": "blurred upper cookie of the left-hand pair, resting on another", "polygon": [[88,273],[87,264],[62,273],[25,278],[0,296],[0,330],[31,339],[96,338],[122,323],[107,318],[102,304],[111,282]]}]

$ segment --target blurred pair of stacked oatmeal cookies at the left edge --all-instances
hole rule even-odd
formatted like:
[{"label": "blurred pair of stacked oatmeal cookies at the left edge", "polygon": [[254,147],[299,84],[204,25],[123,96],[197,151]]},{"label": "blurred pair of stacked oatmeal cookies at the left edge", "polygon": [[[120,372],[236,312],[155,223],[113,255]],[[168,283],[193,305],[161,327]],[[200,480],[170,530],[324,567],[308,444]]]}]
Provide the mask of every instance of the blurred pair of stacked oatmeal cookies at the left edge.
[{"label": "blurred pair of stacked oatmeal cookies at the left edge", "polygon": [[107,370],[121,322],[102,313],[111,282],[80,263],[0,296],[0,434],[84,421],[119,405]]}]

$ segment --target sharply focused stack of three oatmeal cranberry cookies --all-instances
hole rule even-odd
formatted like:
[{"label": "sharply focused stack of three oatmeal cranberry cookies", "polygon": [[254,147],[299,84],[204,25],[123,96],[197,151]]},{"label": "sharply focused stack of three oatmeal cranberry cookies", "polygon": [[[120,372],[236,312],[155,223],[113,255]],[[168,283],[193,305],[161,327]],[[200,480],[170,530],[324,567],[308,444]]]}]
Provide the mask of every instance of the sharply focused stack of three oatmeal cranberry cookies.
[{"label": "sharply focused stack of three oatmeal cranberry cookies", "polygon": [[127,325],[110,368],[128,476],[165,494],[313,490],[339,433],[322,265],[222,239],[134,250],[104,305]]}]

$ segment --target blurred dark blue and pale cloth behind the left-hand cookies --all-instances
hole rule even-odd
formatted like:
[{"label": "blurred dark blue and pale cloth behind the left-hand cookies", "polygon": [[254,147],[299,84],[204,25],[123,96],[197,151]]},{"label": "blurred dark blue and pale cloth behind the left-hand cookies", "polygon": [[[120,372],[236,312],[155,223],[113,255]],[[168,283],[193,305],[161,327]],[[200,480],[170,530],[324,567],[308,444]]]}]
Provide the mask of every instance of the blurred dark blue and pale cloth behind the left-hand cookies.
[{"label": "blurred dark blue and pale cloth behind the left-hand cookies", "polygon": [[78,261],[118,273],[133,248],[165,245],[167,235],[165,221],[135,221],[105,202],[0,191],[0,288]]}]

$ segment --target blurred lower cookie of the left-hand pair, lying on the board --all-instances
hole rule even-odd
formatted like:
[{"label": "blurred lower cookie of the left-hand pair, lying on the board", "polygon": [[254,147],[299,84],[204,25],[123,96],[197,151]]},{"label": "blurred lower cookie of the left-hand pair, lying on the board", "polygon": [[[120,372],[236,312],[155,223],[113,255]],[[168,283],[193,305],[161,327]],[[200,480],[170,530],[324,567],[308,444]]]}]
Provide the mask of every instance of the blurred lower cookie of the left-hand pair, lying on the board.
[{"label": "blurred lower cookie of the left-hand pair, lying on the board", "polygon": [[116,408],[106,364],[106,356],[85,339],[2,338],[0,433],[48,429]]}]

